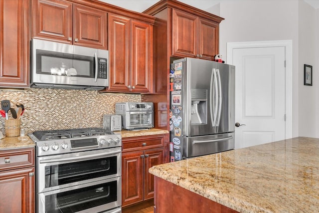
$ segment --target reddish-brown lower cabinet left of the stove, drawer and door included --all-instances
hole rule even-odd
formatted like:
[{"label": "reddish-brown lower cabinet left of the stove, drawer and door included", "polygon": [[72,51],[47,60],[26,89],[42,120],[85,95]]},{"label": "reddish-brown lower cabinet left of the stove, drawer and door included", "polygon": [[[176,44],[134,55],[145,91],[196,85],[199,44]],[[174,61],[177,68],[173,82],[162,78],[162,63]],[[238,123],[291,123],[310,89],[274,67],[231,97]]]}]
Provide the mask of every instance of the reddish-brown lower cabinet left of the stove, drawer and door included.
[{"label": "reddish-brown lower cabinet left of the stove, drawer and door included", "polygon": [[34,213],[34,149],[0,151],[0,166],[0,213]]}]

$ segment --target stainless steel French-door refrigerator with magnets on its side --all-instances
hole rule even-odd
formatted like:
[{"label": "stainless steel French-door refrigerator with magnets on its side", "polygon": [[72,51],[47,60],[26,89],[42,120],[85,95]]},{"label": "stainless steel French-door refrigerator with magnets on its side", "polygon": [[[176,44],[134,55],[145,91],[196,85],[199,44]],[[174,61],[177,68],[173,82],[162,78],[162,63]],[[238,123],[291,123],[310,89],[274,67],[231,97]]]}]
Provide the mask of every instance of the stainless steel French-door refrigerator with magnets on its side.
[{"label": "stainless steel French-door refrigerator with magnets on its side", "polygon": [[234,149],[235,66],[183,58],[169,79],[170,161]]}]

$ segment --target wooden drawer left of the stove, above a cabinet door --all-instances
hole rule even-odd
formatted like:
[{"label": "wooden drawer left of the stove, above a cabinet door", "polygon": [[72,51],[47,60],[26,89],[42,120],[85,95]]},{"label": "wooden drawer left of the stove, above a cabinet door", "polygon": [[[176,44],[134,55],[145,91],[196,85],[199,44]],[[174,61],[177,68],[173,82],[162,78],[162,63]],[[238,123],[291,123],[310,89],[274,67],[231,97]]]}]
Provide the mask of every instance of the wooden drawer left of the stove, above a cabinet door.
[{"label": "wooden drawer left of the stove, above a cabinet door", "polygon": [[34,166],[34,148],[0,151],[0,171]]}]

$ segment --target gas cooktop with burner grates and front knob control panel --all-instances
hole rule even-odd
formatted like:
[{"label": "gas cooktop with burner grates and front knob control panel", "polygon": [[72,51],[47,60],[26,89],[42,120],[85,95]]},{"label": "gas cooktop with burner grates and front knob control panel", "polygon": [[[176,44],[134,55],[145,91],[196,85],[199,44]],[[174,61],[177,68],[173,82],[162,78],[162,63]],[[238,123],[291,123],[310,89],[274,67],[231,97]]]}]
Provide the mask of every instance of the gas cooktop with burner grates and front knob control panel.
[{"label": "gas cooktop with burner grates and front knob control panel", "polygon": [[36,144],[36,155],[56,155],[122,146],[121,134],[102,128],[35,131],[28,136]]}]

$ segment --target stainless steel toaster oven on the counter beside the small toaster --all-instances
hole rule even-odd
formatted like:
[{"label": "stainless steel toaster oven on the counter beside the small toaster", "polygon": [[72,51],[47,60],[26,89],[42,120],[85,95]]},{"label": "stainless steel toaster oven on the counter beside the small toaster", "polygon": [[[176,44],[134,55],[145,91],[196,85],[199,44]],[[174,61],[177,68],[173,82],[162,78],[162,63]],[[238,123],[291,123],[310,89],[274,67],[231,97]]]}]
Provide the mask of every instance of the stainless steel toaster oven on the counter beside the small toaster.
[{"label": "stainless steel toaster oven on the counter beside the small toaster", "polygon": [[154,127],[152,102],[121,102],[115,104],[115,114],[122,115],[122,127],[127,130]]}]

